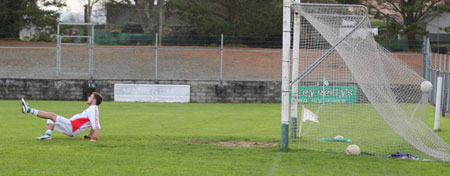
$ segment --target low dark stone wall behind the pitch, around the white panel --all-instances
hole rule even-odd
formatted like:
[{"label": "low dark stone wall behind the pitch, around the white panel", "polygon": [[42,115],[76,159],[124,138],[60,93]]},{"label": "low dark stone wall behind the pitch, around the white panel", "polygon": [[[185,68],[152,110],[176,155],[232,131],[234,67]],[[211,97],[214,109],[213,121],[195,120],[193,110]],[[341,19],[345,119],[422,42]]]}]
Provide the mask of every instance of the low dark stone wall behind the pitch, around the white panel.
[{"label": "low dark stone wall behind the pitch, around the white panel", "polygon": [[92,91],[114,100],[114,84],[175,84],[191,86],[191,102],[280,102],[279,81],[158,81],[153,80],[50,80],[0,79],[0,99],[86,100]]}]

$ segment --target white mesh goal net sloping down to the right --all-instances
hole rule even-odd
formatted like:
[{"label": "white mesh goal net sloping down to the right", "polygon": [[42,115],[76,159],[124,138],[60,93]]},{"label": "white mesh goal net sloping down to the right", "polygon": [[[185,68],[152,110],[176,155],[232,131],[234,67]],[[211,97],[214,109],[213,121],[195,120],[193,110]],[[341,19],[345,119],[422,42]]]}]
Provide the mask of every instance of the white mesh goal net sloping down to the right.
[{"label": "white mesh goal net sloping down to the right", "polygon": [[450,160],[449,145],[425,122],[430,93],[420,89],[424,78],[374,40],[367,8],[291,7],[300,25],[300,36],[292,38],[299,42],[300,74],[292,77],[299,117],[291,147],[345,152],[356,144],[366,155]]}]

